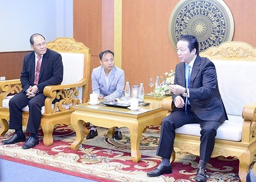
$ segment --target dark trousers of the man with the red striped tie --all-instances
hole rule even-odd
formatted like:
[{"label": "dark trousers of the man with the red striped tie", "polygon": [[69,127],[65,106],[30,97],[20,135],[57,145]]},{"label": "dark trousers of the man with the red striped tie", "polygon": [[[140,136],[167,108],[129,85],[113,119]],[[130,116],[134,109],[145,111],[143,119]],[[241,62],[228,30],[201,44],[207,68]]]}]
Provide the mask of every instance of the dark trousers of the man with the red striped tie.
[{"label": "dark trousers of the man with the red striped tie", "polygon": [[22,130],[22,108],[29,107],[29,118],[26,132],[37,134],[41,121],[41,108],[44,106],[46,97],[38,93],[32,99],[28,99],[26,93],[20,92],[9,101],[10,121],[9,128]]}]

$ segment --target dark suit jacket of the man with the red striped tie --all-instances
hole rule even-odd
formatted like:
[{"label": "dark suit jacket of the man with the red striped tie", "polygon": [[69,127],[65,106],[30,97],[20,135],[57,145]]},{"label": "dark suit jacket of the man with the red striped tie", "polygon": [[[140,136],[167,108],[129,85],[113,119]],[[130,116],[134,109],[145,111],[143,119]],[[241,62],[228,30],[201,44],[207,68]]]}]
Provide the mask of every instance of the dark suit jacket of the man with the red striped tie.
[{"label": "dark suit jacket of the man with the red striped tie", "polygon": [[[33,86],[35,78],[35,52],[31,52],[24,57],[21,73],[22,92],[26,92],[29,86]],[[61,84],[63,79],[62,56],[50,49],[47,49],[43,56],[40,68],[38,89],[44,91],[48,85]]]}]

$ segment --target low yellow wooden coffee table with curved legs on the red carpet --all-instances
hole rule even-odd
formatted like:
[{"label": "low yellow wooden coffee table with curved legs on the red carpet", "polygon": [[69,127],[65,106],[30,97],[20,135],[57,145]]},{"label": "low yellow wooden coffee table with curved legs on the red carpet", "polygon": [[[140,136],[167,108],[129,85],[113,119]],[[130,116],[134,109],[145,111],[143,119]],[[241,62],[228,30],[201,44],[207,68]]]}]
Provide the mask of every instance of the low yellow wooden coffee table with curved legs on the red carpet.
[{"label": "low yellow wooden coffee table with curved legs on the red carpet", "polygon": [[[117,108],[103,106],[102,104],[90,105],[88,103],[74,106],[75,111],[71,114],[71,125],[73,126],[76,139],[71,144],[71,149],[77,150],[84,140],[87,130],[85,123],[90,122],[94,126],[109,128],[108,137],[113,137],[115,126],[128,127],[131,136],[131,156],[133,162],[141,160],[140,140],[146,126],[158,126],[167,111],[162,109],[162,103],[154,100],[145,100],[148,106],[141,106],[138,111],[128,108]],[[87,132],[88,133],[88,132]]]}]

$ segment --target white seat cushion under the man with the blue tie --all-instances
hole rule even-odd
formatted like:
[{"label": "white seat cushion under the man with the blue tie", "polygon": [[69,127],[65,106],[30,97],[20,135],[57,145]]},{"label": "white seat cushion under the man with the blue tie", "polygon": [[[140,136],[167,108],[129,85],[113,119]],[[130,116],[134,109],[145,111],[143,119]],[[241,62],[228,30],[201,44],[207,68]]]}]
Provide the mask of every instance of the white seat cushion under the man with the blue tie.
[{"label": "white seat cushion under the man with the blue tie", "polygon": [[[217,130],[216,139],[239,142],[242,139],[243,118],[241,116],[228,115],[229,120],[225,121]],[[199,124],[187,124],[176,129],[178,134],[201,136]]]}]

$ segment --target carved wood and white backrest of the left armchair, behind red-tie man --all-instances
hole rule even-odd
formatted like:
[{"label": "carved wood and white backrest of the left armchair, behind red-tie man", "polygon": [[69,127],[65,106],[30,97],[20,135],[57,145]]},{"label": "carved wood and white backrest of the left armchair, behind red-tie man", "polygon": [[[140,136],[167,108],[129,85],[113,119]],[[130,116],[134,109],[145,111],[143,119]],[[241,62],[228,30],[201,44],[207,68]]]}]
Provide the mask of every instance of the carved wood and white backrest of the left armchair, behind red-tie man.
[{"label": "carved wood and white backrest of the left armchair, behind red-tie man", "polygon": [[79,95],[74,97],[82,99],[84,103],[87,102],[91,59],[90,48],[87,48],[84,43],[67,37],[59,37],[52,42],[48,42],[47,47],[62,55],[64,67],[62,84],[85,81],[86,84],[83,87],[77,87]]}]

